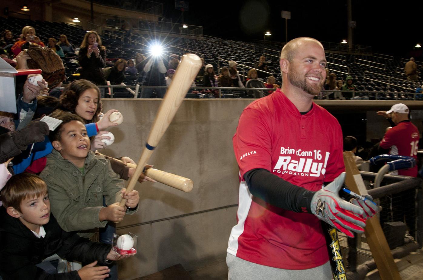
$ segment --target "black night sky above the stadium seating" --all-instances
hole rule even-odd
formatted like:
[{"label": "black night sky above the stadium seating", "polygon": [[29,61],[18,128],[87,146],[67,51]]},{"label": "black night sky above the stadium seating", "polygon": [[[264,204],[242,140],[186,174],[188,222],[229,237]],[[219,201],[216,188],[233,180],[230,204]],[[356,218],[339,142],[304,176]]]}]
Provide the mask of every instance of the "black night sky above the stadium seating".
[{"label": "black night sky above the stadium seating", "polygon": [[[174,1],[162,3],[164,16],[181,22],[181,12],[175,9]],[[291,11],[288,40],[309,36],[340,42],[347,39],[346,3],[346,0],[189,1],[184,22],[203,26],[205,35],[248,41],[263,40],[263,34],[270,31],[270,40],[285,41],[285,19],[280,17],[280,11],[285,10]],[[423,1],[394,3],[352,0],[352,20],[357,22],[353,43],[372,46],[373,52],[421,57],[422,51],[413,49],[416,43],[423,43]]]}]

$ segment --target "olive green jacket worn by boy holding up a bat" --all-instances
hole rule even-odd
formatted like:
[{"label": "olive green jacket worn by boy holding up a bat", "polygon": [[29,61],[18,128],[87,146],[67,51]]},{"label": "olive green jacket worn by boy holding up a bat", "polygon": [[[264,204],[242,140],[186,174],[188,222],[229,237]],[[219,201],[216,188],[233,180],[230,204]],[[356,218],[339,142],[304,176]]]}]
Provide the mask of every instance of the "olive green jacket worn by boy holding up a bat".
[{"label": "olive green jacket worn by boy holding up a bat", "polygon": [[[107,221],[99,221],[106,205],[121,201],[124,180],[113,172],[107,159],[89,152],[85,159],[85,174],[56,150],[47,157],[47,165],[40,176],[49,189],[51,211],[65,231],[79,231],[82,237],[91,237],[96,228]],[[138,207],[137,207],[138,208]],[[127,211],[134,214],[136,209]]]}]

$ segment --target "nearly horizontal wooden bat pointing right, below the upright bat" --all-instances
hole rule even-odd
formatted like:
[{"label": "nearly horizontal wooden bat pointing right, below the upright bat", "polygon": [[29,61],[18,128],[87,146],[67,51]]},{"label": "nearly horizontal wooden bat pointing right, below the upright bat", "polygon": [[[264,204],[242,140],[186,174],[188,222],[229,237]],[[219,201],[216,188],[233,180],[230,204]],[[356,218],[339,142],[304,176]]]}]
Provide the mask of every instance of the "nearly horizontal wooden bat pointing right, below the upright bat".
[{"label": "nearly horizontal wooden bat pointing right, below the upright bat", "polygon": [[[129,168],[136,168],[137,166],[132,163],[126,163],[126,166]],[[186,193],[189,193],[192,190],[193,183],[191,179],[168,173],[159,169],[148,168],[144,174],[146,174],[151,179],[156,180],[162,184],[168,185],[169,187],[176,188],[177,190],[182,190]]]}]

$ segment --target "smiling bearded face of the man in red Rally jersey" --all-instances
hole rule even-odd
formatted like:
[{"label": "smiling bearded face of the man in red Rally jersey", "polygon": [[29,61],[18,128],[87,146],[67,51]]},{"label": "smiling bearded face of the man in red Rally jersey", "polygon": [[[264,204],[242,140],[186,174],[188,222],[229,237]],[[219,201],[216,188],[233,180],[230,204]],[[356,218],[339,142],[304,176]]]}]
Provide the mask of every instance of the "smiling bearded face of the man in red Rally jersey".
[{"label": "smiling bearded face of the man in red Rally jersey", "polygon": [[326,78],[324,49],[314,41],[299,44],[289,62],[288,80],[309,95],[318,95]]}]

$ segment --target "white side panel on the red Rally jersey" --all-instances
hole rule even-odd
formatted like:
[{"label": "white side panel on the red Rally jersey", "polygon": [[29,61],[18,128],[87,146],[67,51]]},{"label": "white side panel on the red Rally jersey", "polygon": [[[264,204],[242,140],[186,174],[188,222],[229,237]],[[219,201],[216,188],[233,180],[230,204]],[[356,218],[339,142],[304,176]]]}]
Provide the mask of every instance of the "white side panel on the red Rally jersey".
[{"label": "white side panel on the red Rally jersey", "polygon": [[251,202],[253,195],[248,190],[247,183],[241,181],[239,183],[239,196],[238,196],[238,223],[231,230],[231,236],[229,237],[228,250],[226,252],[236,256],[238,251],[238,237],[244,232],[244,223],[247,219],[248,212],[250,211]]}]

